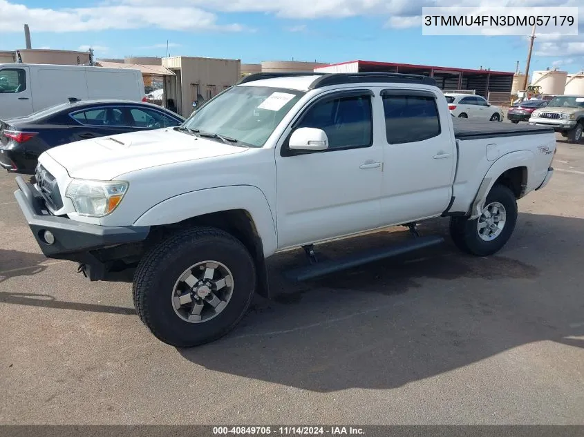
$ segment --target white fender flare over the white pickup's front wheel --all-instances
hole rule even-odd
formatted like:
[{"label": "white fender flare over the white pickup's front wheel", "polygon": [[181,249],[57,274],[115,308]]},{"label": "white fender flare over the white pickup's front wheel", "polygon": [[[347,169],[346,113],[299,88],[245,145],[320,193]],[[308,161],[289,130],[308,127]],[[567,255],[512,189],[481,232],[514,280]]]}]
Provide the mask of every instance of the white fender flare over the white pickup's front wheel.
[{"label": "white fender flare over the white pickup's front wheel", "polygon": [[249,213],[263,243],[265,258],[276,251],[276,224],[263,191],[253,185],[220,186],[189,191],[163,200],[144,211],[134,226],[182,222],[199,215],[242,209]]}]

